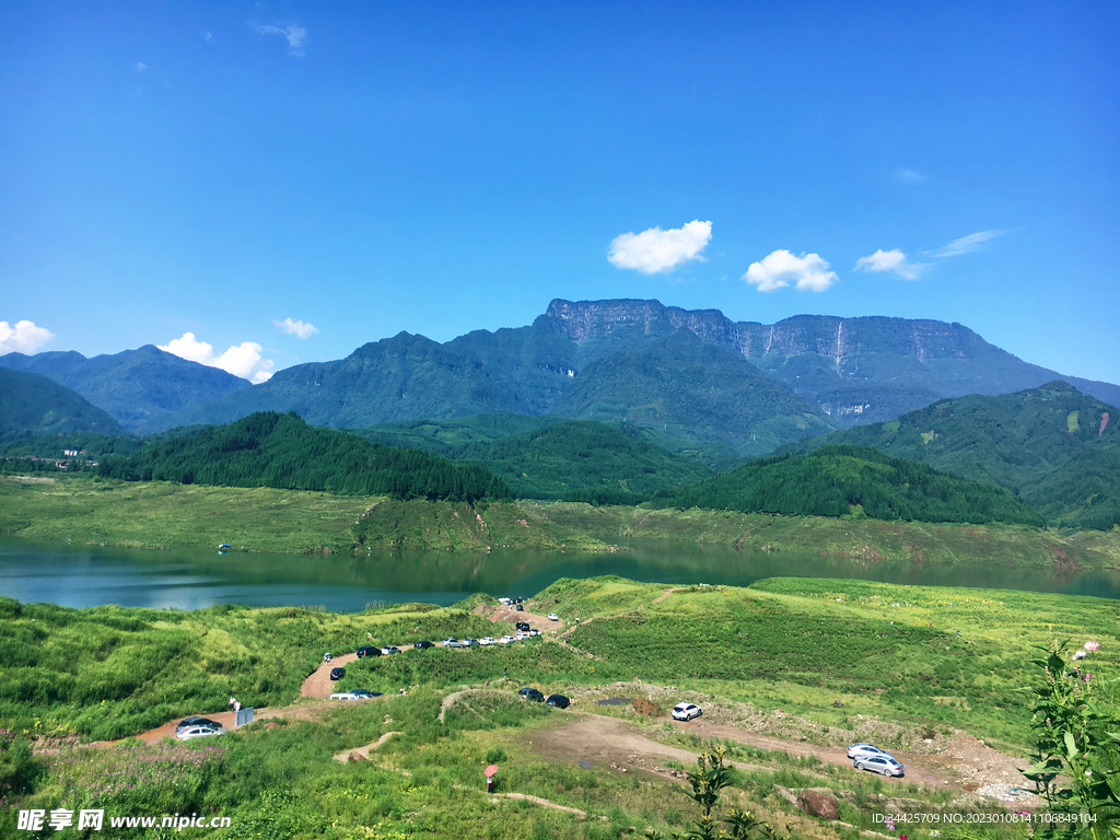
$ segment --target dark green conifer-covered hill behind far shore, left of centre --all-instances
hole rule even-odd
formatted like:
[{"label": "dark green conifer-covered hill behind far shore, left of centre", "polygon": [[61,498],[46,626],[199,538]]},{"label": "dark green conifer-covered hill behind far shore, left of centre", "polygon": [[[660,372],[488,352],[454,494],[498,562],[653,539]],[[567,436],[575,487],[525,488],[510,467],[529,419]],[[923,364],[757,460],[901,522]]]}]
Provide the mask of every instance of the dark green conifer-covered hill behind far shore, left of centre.
[{"label": "dark green conifer-covered hill behind far shore, left of centre", "polygon": [[354,495],[474,502],[512,498],[483,467],[419,449],[395,449],[308,426],[296,413],[264,411],[228,426],[205,426],[105,458],[100,475],[228,487],[278,487]]}]

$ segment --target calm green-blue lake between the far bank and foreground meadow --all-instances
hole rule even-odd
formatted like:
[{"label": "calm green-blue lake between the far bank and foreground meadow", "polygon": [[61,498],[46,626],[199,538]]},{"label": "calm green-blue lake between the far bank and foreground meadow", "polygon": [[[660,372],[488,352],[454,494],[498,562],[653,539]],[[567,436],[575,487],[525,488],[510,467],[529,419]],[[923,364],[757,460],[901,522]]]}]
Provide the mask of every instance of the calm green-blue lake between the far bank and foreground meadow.
[{"label": "calm green-blue lake between the far bank and foreground meadow", "polygon": [[830,577],[918,586],[971,586],[1120,598],[1120,572],[963,563],[915,566],[744,552],[725,545],[628,541],[615,553],[416,551],[293,557],[212,549],[68,547],[0,538],[0,595],[71,607],[202,609],[215,604],[326,607],[449,605],[473,592],[523,596],[559,578],[618,575],[673,585],[748,586],[771,577]]}]

